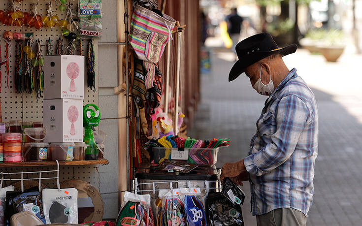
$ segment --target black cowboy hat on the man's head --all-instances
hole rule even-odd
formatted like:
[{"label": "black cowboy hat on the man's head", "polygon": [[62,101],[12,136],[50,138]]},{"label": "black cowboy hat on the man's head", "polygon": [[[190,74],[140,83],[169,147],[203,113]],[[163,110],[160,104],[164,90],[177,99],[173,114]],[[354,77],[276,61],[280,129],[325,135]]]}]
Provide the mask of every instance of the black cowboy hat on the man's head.
[{"label": "black cowboy hat on the man's head", "polygon": [[273,54],[280,54],[282,57],[296,52],[296,44],[279,48],[269,33],[259,33],[241,42],[236,47],[237,58],[239,59],[231,68],[229,82],[236,79],[245,68]]}]

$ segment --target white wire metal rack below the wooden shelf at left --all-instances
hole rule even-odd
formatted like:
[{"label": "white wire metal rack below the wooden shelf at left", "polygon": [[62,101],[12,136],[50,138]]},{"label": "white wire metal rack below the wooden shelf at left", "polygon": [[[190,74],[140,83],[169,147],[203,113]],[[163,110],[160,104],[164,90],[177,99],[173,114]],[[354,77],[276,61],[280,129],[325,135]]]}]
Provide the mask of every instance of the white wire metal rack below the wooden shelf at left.
[{"label": "white wire metal rack below the wooden shelf at left", "polygon": [[[24,192],[24,185],[23,185],[23,181],[25,180],[39,180],[39,192],[41,190],[41,180],[49,180],[49,179],[57,179],[57,188],[60,189],[60,184],[59,184],[59,162],[58,160],[57,162],[57,169],[56,170],[44,170],[44,171],[31,171],[31,172],[11,172],[11,173],[4,173],[4,172],[0,172],[1,174],[1,181],[0,181],[0,190],[2,188],[2,182],[3,181],[21,181],[21,192]],[[57,172],[57,176],[56,177],[41,177],[42,173],[50,173],[50,172]],[[30,174],[30,173],[38,173],[39,177],[38,178],[24,178],[24,174]],[[14,174],[20,174],[21,178],[9,178],[9,179],[4,179],[4,175],[14,175]]]}]

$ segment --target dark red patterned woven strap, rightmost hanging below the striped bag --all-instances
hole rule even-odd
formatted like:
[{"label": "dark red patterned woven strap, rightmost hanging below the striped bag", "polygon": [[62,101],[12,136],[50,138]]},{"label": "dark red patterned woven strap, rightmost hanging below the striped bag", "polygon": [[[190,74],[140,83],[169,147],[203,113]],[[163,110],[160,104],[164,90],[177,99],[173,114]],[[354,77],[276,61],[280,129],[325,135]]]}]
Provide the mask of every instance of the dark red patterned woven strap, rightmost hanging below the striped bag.
[{"label": "dark red patterned woven strap, rightmost hanging below the striped bag", "polygon": [[151,115],[155,114],[155,109],[160,106],[162,95],[162,73],[157,66],[155,66],[155,76],[153,80],[153,87],[147,90],[146,94],[146,120],[147,120],[147,136],[152,135],[152,118]]}]

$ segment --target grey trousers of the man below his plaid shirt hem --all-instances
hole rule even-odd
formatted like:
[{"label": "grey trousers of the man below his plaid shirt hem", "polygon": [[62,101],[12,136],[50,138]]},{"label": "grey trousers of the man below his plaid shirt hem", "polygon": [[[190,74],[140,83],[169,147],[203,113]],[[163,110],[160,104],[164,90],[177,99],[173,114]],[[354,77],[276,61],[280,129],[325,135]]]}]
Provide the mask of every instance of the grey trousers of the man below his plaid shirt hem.
[{"label": "grey trousers of the man below his plaid shirt hem", "polygon": [[257,215],[258,226],[306,226],[307,217],[293,208],[280,208]]}]

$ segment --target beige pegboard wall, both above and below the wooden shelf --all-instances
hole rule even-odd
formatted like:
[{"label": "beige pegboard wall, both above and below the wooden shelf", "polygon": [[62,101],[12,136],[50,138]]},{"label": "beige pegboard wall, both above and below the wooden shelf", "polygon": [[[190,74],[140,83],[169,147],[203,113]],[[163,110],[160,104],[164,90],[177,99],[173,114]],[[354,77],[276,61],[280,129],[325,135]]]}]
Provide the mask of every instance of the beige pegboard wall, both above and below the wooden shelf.
[{"label": "beige pegboard wall, both above and below the wooden shelf", "polygon": [[[52,8],[55,10],[54,15],[57,15],[59,19],[64,19],[66,16],[66,11],[61,12],[58,7],[60,4],[59,0],[22,0],[21,2],[15,2],[20,6],[20,10],[23,12],[31,13],[31,4],[38,2],[37,12],[41,16],[47,15],[47,4],[49,1],[52,2]],[[77,9],[77,0],[68,0],[68,2],[72,6],[72,11],[76,13]],[[11,4],[11,0],[1,0],[0,1],[0,9],[5,11],[8,9],[9,5]],[[7,26],[0,23],[0,35],[3,36],[5,31],[11,32],[20,32],[20,33],[28,33],[33,32],[33,44],[32,50],[36,52],[36,42],[35,40],[39,39],[41,44],[41,52],[42,57],[47,53],[47,40],[50,38],[52,40],[53,46],[53,55],[55,55],[56,51],[56,40],[59,36],[62,36],[62,28],[56,26],[54,28],[46,28],[43,27],[41,30],[37,30],[35,28],[28,28],[26,26],[23,27],[14,27],[14,26]],[[62,36],[63,39],[63,47],[68,44],[68,41],[65,37]],[[43,97],[36,99],[35,94],[28,94],[28,93],[16,93],[16,89],[14,87],[14,68],[15,68],[15,40],[9,42],[11,49],[11,55],[9,58],[9,75],[6,73],[5,65],[0,67],[2,72],[2,79],[1,79],[1,113],[2,113],[2,122],[9,122],[10,120],[23,120],[23,122],[36,122],[42,121],[42,105],[43,105]],[[79,42],[75,42],[76,45]],[[88,39],[83,39],[82,49],[83,55],[86,59],[87,54],[87,44]],[[0,39],[1,45],[1,57],[2,60],[5,60],[5,41]],[[26,41],[23,42],[23,45],[26,45]],[[96,92],[88,89],[86,81],[87,81],[87,73],[85,71],[85,94],[84,94],[84,104],[86,103],[95,103],[98,104],[98,41],[97,39],[94,40],[94,47],[95,47],[95,59],[96,59]],[[65,48],[64,48],[65,49]],[[74,51],[75,55],[78,55],[78,46]],[[85,67],[86,68],[86,67]],[[7,84],[7,76],[9,77],[8,84]],[[85,165],[85,166],[60,166],[60,178],[59,181],[63,182],[69,179],[80,179],[87,181],[88,183],[95,186],[99,189],[99,172],[97,170],[98,166],[95,165]],[[43,166],[43,167],[0,167],[0,171],[3,172],[30,172],[30,171],[38,171],[38,170],[54,170],[56,166]],[[56,173],[44,173],[42,177],[53,177],[56,176]],[[13,178],[20,178],[19,175],[13,175]],[[38,174],[28,174],[26,175],[28,178],[38,177]],[[25,178],[25,177],[24,177]],[[12,182],[6,181],[7,184]],[[42,181],[46,186],[50,188],[56,187],[56,180],[44,180]]]}]

